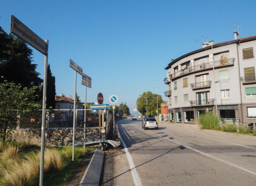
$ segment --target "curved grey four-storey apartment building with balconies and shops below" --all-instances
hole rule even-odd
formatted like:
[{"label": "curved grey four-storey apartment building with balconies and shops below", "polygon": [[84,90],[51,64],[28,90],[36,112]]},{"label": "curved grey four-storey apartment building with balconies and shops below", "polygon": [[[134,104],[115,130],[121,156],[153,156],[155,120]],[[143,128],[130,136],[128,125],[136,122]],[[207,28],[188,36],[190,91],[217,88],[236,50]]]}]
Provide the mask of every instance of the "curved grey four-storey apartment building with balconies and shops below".
[{"label": "curved grey four-storey apartment building with balconies and shops below", "polygon": [[197,123],[206,110],[219,118],[256,123],[256,36],[213,44],[172,59],[165,68],[169,120]]}]

